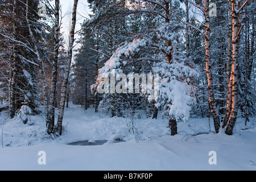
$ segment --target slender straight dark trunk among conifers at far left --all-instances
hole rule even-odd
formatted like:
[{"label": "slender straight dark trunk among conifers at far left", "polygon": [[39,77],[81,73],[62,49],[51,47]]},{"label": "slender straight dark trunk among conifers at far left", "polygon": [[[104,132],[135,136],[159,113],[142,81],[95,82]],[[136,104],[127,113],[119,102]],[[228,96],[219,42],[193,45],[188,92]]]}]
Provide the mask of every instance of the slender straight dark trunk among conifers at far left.
[{"label": "slender straight dark trunk among conifers at far left", "polygon": [[[16,23],[16,8],[17,8],[17,1],[14,0],[14,5],[13,5],[13,19],[14,19],[14,24],[13,24],[13,39],[17,40],[18,38],[18,26]],[[15,91],[16,91],[16,76],[17,76],[17,60],[18,59],[18,52],[16,48],[16,43],[13,45],[13,63],[12,63],[12,69],[13,69],[13,75],[11,78],[11,100],[10,102],[10,118],[14,118],[15,116]]]}]

